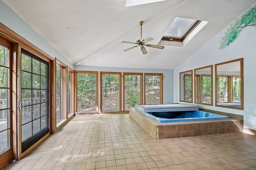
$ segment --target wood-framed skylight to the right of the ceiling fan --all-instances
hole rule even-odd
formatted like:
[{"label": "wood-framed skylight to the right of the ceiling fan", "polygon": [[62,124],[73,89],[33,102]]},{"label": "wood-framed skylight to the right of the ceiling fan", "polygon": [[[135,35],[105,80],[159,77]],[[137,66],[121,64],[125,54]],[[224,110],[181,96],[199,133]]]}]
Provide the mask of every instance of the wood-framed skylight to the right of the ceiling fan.
[{"label": "wood-framed skylight to the right of the ceiling fan", "polygon": [[182,42],[199,23],[199,20],[176,17],[162,40]]}]

